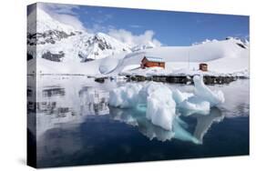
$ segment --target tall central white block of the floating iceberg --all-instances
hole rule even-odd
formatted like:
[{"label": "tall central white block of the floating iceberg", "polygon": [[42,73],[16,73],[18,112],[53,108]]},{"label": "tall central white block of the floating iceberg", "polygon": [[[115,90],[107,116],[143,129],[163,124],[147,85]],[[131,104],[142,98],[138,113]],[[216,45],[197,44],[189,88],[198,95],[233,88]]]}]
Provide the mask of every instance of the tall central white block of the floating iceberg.
[{"label": "tall central white block of the floating iceberg", "polygon": [[169,88],[156,89],[147,98],[146,117],[156,126],[172,130],[172,122],[176,114],[176,103]]}]

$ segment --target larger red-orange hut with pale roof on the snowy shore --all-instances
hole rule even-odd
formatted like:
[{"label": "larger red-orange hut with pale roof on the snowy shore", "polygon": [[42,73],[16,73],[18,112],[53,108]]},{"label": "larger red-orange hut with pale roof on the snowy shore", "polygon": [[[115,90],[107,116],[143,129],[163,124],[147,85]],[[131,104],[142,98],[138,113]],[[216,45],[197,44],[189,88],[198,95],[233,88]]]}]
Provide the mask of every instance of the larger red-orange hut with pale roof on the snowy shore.
[{"label": "larger red-orange hut with pale roof on the snowy shore", "polygon": [[145,69],[146,67],[155,67],[155,66],[165,68],[165,62],[163,58],[160,58],[160,57],[144,56],[140,66],[143,69]]}]

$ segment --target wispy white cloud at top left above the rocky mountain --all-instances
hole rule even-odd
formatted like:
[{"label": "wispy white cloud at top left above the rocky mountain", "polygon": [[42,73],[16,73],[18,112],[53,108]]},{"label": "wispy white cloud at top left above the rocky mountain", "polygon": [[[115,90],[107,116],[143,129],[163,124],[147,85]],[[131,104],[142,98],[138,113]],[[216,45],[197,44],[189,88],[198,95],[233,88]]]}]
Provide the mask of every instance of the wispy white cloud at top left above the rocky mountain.
[{"label": "wispy white cloud at top left above the rocky mountain", "polygon": [[39,3],[38,7],[63,24],[72,25],[77,30],[86,30],[83,23],[79,20],[78,15],[73,11],[79,8],[78,5]]}]

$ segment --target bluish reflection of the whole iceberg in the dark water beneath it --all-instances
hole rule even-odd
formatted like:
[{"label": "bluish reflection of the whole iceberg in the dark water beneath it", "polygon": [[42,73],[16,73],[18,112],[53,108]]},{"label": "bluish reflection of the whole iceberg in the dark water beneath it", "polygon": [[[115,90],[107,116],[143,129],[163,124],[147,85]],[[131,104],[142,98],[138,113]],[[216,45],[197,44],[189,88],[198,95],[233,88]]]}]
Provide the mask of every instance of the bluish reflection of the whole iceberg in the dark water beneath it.
[{"label": "bluish reflection of the whole iceberg in the dark water beneath it", "polygon": [[186,129],[188,124],[176,118],[173,124],[173,131],[167,131],[159,126],[154,126],[148,121],[145,114],[135,111],[134,109],[119,109],[115,107],[110,108],[110,116],[120,122],[126,123],[130,126],[138,126],[138,131],[147,136],[150,140],[153,138],[159,141],[167,141],[172,138],[177,138],[182,141],[190,141],[195,144],[202,143],[203,136],[210,129],[213,122],[220,122],[223,115],[218,108],[212,108],[208,116],[196,116],[197,125],[194,134],[190,134]]}]

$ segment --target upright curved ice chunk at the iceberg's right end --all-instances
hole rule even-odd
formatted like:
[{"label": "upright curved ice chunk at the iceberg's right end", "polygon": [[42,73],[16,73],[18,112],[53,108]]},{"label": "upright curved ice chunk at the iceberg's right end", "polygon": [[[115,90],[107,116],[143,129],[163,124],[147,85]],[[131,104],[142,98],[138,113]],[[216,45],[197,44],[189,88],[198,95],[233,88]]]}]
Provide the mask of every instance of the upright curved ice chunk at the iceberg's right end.
[{"label": "upright curved ice chunk at the iceberg's right end", "polygon": [[210,106],[217,106],[224,103],[225,98],[223,93],[219,91],[212,91],[209,87],[204,85],[203,78],[200,75],[194,75],[193,81],[195,84],[195,95],[202,100],[210,102]]}]

